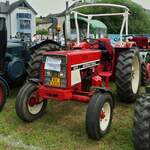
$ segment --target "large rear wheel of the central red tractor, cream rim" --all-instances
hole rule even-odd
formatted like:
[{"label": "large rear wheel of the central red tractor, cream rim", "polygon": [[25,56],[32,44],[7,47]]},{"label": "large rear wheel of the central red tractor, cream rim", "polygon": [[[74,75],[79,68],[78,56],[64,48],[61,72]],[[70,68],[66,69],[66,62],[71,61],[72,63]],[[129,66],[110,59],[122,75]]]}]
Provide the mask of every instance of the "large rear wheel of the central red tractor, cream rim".
[{"label": "large rear wheel of the central red tractor, cream rim", "polygon": [[134,102],[140,88],[141,66],[137,49],[120,52],[116,67],[116,86],[120,100]]}]

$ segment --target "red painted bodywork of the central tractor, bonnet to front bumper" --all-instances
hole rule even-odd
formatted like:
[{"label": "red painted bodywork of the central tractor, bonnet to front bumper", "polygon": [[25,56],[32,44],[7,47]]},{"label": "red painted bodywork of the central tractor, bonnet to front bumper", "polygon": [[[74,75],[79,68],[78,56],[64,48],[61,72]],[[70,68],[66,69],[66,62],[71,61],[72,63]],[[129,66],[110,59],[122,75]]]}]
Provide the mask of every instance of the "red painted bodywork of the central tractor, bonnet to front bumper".
[{"label": "red painted bodywork of the central tractor, bonnet to front bumper", "polygon": [[[102,45],[100,45],[102,44]],[[101,49],[100,49],[101,48]],[[105,87],[110,89],[109,80],[115,71],[115,62],[117,51],[115,51],[110,40],[107,38],[96,39],[93,43],[81,42],[79,45],[73,44],[72,49],[64,51],[54,51],[44,53],[44,56],[59,55],[66,56],[67,59],[67,87],[58,88],[50,87],[44,84],[38,85],[38,97],[42,99],[56,99],[59,101],[76,100],[80,102],[88,102],[93,95],[94,90],[85,91],[86,83],[77,83],[71,85],[71,67],[83,63],[98,61],[96,66],[89,67],[91,71],[91,86]],[[106,58],[105,58],[106,57]],[[109,59],[108,59],[109,58]],[[84,79],[88,73],[88,69],[80,70],[81,79]],[[44,81],[44,63],[42,64],[42,80]],[[103,80],[104,83],[103,84]],[[44,83],[44,82],[43,82]],[[40,99],[40,98],[39,98]]]}]

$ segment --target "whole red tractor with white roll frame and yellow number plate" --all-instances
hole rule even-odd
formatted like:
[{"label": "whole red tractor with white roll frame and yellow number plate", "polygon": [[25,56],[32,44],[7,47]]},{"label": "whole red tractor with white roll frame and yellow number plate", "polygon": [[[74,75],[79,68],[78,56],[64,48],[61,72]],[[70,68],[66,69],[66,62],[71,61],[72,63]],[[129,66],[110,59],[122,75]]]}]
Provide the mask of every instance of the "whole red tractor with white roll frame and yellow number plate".
[{"label": "whole red tractor with white roll frame and yellow number plate", "polygon": [[[83,14],[79,10],[89,7],[113,7],[121,13]],[[126,6],[115,4],[86,4],[73,8],[67,15],[74,15],[77,42],[70,50],[43,53],[41,79],[29,79],[20,89],[16,100],[16,113],[20,119],[32,122],[39,118],[49,99],[75,100],[89,103],[86,112],[86,131],[90,138],[100,139],[112,122],[115,105],[110,79],[115,79],[117,93],[122,101],[136,99],[140,86],[140,58],[135,42],[121,41],[113,48],[108,38],[80,39],[77,16],[123,16],[120,34],[124,28],[128,34],[128,11]],[[69,18],[69,17],[66,17]],[[68,22],[68,21],[67,21]],[[69,25],[67,25],[69,31]],[[122,37],[122,36],[121,36]]]}]

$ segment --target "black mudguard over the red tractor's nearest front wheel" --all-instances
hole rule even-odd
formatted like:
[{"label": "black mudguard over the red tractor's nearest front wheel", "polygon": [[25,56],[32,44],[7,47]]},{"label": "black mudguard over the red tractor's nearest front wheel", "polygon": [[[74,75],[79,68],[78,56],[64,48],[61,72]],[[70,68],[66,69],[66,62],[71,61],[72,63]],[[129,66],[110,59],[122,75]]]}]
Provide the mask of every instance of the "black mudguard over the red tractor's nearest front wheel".
[{"label": "black mudguard over the red tractor's nearest front wheel", "polygon": [[95,93],[109,93],[112,97],[113,108],[115,107],[115,98],[114,98],[114,95],[110,89],[106,89],[104,87],[97,87]]}]

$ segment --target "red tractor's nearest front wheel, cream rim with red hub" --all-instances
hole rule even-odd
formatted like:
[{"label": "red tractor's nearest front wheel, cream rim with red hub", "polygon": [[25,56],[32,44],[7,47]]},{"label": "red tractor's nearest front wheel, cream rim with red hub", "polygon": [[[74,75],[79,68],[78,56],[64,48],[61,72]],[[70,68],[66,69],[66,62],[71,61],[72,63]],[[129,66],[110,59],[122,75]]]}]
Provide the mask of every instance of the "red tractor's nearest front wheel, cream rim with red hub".
[{"label": "red tractor's nearest front wheel, cream rim with red hub", "polygon": [[90,138],[99,140],[111,126],[113,100],[108,93],[95,93],[86,112],[86,131]]}]

